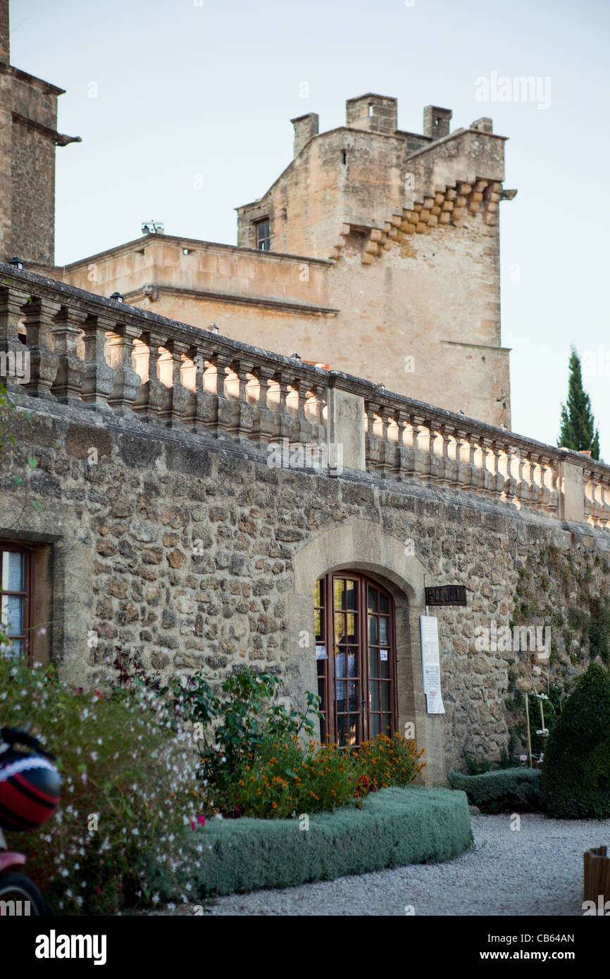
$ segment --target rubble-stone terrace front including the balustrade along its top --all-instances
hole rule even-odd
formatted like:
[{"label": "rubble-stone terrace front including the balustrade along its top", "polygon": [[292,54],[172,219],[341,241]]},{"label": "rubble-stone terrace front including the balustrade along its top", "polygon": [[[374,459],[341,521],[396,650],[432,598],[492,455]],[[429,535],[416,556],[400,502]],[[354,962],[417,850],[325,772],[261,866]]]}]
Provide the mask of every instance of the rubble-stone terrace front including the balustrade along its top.
[{"label": "rubble-stone terrace front including the balustrade along its top", "polygon": [[[610,583],[610,467],[580,453],[7,265],[0,349],[30,365],[10,380],[0,550],[28,555],[29,655],[75,683],[102,682],[119,645],[164,676],[270,670],[303,705],[316,583],[365,579],[391,603],[393,726],[413,725],[432,782],[464,748],[506,746],[510,671],[537,654],[481,652],[475,636],[510,621],[528,553],[582,550]],[[446,583],[468,600],[428,610],[446,707],[433,715],[419,622],[425,586]],[[370,730],[378,680],[350,682]]]}]

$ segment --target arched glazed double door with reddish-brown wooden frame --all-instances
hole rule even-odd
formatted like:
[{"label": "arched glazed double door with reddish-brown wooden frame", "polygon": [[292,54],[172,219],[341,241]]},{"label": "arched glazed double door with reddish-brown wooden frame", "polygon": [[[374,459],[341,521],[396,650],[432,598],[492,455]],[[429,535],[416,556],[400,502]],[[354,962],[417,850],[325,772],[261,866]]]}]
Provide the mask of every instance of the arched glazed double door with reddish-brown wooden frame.
[{"label": "arched glazed double door with reddish-brown wooden frame", "polygon": [[349,571],[314,590],[320,737],[358,745],[397,729],[394,600],[381,584]]}]

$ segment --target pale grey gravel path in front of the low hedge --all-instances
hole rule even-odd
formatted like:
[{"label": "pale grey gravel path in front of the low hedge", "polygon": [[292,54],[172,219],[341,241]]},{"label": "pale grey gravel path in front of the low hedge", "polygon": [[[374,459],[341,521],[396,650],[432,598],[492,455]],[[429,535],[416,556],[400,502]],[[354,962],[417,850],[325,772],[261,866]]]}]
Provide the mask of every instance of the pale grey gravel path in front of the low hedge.
[{"label": "pale grey gravel path in front of the low hedge", "polygon": [[610,844],[610,819],[522,815],[519,830],[510,824],[510,816],[472,816],[474,849],[452,861],[231,895],[204,914],[403,915],[412,906],[420,915],[581,915],[583,854]]}]

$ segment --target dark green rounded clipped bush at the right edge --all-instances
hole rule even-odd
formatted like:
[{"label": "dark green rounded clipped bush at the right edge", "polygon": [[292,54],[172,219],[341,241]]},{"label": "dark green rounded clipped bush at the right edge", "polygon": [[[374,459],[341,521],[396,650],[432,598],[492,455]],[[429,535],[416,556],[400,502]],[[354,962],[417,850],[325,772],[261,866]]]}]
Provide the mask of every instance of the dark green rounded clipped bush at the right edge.
[{"label": "dark green rounded clipped bush at the right edge", "polygon": [[610,677],[591,663],[547,738],[542,804],[556,818],[610,816]]}]

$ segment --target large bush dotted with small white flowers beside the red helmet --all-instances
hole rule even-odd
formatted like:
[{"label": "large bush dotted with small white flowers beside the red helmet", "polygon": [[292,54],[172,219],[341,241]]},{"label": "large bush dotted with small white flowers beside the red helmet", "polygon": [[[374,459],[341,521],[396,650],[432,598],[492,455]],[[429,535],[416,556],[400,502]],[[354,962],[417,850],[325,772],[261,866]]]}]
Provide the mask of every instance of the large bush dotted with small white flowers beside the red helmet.
[{"label": "large bush dotted with small white flowers beside the red helmet", "polygon": [[154,901],[142,878],[151,856],[177,865],[183,831],[196,818],[189,796],[192,744],[170,703],[146,685],[109,693],[75,691],[52,668],[0,656],[0,722],[23,726],[58,758],[62,803],[38,830],[10,834],[51,909],[112,913]]}]

